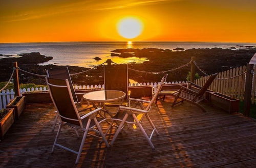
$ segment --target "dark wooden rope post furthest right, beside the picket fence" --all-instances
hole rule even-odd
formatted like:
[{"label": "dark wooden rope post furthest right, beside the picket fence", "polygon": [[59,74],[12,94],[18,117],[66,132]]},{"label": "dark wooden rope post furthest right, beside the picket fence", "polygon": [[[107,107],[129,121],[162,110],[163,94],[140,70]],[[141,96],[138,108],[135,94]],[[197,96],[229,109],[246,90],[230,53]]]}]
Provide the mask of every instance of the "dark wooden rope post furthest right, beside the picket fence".
[{"label": "dark wooden rope post furthest right, beside the picket fence", "polygon": [[253,76],[253,64],[247,64],[246,76],[245,76],[245,92],[244,92],[244,115],[250,115],[251,105],[251,89],[252,89],[252,76]]}]

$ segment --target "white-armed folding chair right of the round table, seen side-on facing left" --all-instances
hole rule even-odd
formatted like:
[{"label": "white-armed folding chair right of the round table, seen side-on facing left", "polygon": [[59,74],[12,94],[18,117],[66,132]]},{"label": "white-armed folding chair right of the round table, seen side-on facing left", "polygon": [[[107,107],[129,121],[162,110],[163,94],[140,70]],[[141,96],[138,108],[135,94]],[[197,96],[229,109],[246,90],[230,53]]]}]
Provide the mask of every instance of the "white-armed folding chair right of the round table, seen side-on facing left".
[{"label": "white-armed folding chair right of the round table, seen side-on facing left", "polygon": [[[161,88],[163,86],[163,83],[165,83],[167,76],[168,76],[167,74],[165,74],[163,76],[163,78],[162,78],[162,80],[160,82],[160,85],[159,85],[155,95],[151,99],[151,101],[130,98],[129,99],[129,107],[120,106],[120,110],[122,110],[122,111],[119,111],[119,113],[117,113],[111,119],[113,121],[112,121],[110,127],[108,128],[108,130],[106,131],[106,133],[108,133],[108,131],[110,130],[110,128],[114,124],[114,122],[117,122],[117,121],[121,122],[119,124],[119,126],[117,126],[118,129],[117,129],[117,131],[116,131],[116,133],[115,133],[115,135],[114,135],[114,137],[113,137],[113,139],[111,141],[111,144],[110,144],[111,146],[114,144],[114,142],[116,140],[116,137],[119,134],[119,132],[123,129],[124,124],[137,124],[138,127],[140,128],[140,130],[142,131],[142,133],[144,134],[144,136],[146,137],[147,142],[150,144],[151,148],[155,149],[154,145],[151,142],[151,138],[152,138],[154,132],[159,136],[159,132],[157,131],[155,125],[153,124],[152,120],[148,116],[148,113],[149,113],[149,111],[151,109],[151,105],[153,104],[153,102],[156,99],[159,91],[161,90]],[[137,104],[140,105],[141,109],[130,107],[130,101],[135,101]],[[148,103],[146,108],[144,108],[142,103]],[[150,137],[148,137],[148,135],[146,134],[144,128],[141,125],[144,116],[146,116],[146,119],[148,120],[148,122],[150,123],[150,125],[153,128],[153,131],[151,132]]]}]

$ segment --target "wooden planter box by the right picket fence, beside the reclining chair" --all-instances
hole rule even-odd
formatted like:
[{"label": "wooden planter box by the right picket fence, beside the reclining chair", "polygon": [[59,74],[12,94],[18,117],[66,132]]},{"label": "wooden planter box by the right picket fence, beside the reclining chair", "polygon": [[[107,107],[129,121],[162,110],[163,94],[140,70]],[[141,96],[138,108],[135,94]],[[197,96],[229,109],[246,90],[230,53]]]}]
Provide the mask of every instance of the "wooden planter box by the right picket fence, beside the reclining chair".
[{"label": "wooden planter box by the right picket fence, beside the reclining chair", "polygon": [[239,111],[239,99],[232,98],[219,92],[211,92],[209,94],[209,101],[228,113]]}]

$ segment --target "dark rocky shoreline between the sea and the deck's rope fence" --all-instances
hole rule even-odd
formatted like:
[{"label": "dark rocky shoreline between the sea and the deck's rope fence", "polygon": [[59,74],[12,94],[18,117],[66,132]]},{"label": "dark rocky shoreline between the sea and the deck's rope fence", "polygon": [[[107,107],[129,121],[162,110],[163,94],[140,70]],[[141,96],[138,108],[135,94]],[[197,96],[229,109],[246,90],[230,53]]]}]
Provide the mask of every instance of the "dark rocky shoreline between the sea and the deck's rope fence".
[{"label": "dark rocky shoreline between the sea and the deck's rope fence", "polygon": [[[129,64],[133,69],[141,71],[165,71],[182,66],[190,61],[191,57],[196,57],[197,64],[208,74],[221,72],[230,68],[246,65],[256,49],[222,49],[222,48],[204,48],[204,49],[187,49],[172,51],[170,49],[159,48],[126,48],[113,50],[111,55],[122,58],[138,57],[147,58],[149,61],[143,64]],[[6,56],[6,55],[0,55]],[[69,67],[70,73],[76,73],[87,70],[89,68],[77,66],[57,66],[57,65],[38,65],[52,60],[52,57],[46,57],[39,52],[18,54],[18,57],[0,59],[0,81],[7,81],[13,67],[13,62],[17,61],[21,69],[26,71],[46,74],[47,69],[55,69],[60,67]],[[190,66],[168,73],[168,81],[182,81],[190,70]],[[199,75],[203,75],[197,70]],[[45,84],[45,80],[40,77],[31,76],[29,74],[19,72],[20,83]],[[141,73],[129,70],[129,78],[138,82],[154,82],[159,81],[163,74]],[[77,85],[98,85],[103,84],[103,67],[91,70],[87,73],[72,76],[72,80]]]}]

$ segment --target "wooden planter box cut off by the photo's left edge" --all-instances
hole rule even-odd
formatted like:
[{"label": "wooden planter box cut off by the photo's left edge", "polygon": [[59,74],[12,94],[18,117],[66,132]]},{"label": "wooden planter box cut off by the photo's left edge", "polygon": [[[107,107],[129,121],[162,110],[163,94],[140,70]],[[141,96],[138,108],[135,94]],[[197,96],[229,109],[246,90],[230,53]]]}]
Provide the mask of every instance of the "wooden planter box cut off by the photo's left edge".
[{"label": "wooden planter box cut off by the photo's left edge", "polygon": [[0,138],[3,139],[5,133],[14,123],[14,108],[7,108],[8,113],[0,120]]}]

